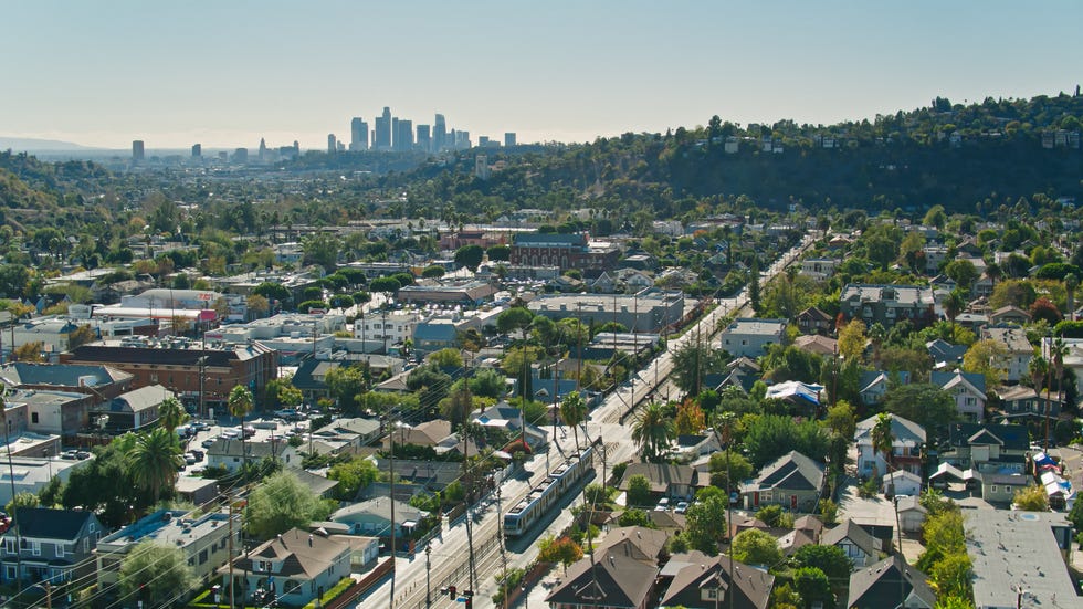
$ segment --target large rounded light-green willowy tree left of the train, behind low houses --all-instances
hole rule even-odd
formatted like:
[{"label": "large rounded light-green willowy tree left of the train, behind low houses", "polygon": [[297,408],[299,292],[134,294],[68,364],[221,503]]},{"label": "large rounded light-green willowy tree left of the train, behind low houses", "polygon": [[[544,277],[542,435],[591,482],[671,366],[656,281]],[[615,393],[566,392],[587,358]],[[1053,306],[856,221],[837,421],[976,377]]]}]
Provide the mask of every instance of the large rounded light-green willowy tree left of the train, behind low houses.
[{"label": "large rounded light-green willowy tree left of the train, behind low houses", "polygon": [[269,539],[327,515],[319,498],[296,474],[284,470],[272,474],[252,491],[244,513],[244,528],[255,537]]}]

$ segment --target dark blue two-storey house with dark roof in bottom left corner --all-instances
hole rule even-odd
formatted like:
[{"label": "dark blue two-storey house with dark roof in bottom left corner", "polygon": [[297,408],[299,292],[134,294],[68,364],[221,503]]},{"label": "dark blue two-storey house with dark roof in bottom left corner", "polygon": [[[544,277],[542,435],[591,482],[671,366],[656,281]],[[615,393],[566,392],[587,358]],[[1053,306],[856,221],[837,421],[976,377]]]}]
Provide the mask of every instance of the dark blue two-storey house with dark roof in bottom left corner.
[{"label": "dark blue two-storey house with dark roof in bottom left corner", "polygon": [[[0,545],[0,581],[54,586],[94,574],[94,548],[105,534],[93,512],[19,507]],[[20,544],[21,542],[21,544]]]}]

